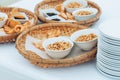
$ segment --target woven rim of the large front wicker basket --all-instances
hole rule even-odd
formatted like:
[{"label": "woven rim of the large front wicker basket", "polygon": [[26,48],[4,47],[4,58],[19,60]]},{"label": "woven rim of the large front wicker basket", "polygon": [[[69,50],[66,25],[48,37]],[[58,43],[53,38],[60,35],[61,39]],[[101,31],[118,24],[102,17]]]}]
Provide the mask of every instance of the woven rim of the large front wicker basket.
[{"label": "woven rim of the large front wicker basket", "polygon": [[[86,58],[89,58],[89,59],[90,59],[90,58],[91,58],[91,59],[94,58],[94,56],[95,56],[95,54],[96,54],[96,48],[94,48],[93,50],[91,50],[91,51],[89,51],[89,52],[86,52],[86,53],[84,53],[84,54],[81,54],[81,55],[79,55],[79,56],[76,56],[76,57],[74,57],[74,58],[66,58],[66,59],[60,59],[60,60],[55,60],[55,59],[43,59],[43,58],[41,58],[40,56],[39,56],[39,58],[36,60],[36,59],[34,59],[34,58],[31,58],[31,57],[33,57],[33,56],[28,56],[28,54],[30,54],[30,53],[32,53],[32,54],[36,54],[36,53],[34,53],[34,52],[32,52],[32,51],[26,51],[26,50],[25,50],[25,43],[21,43],[21,42],[19,42],[19,41],[22,40],[22,37],[23,37],[23,36],[26,37],[26,35],[27,35],[28,32],[30,32],[30,31],[32,31],[32,30],[35,30],[35,29],[42,28],[42,27],[44,27],[44,26],[46,26],[46,25],[50,25],[50,24],[52,24],[52,25],[54,25],[54,24],[57,24],[57,25],[69,24],[69,25],[71,25],[71,26],[73,26],[73,27],[74,27],[75,25],[77,25],[77,24],[71,24],[71,23],[47,23],[47,24],[42,24],[42,25],[36,25],[36,26],[32,27],[31,29],[29,29],[29,30],[27,30],[27,31],[24,31],[23,33],[21,33],[21,34],[18,36],[18,38],[17,38],[17,40],[16,40],[16,48],[17,48],[18,52],[19,52],[20,54],[22,54],[25,58],[27,57],[27,59],[30,60],[31,62],[34,61],[34,62],[36,62],[36,63],[42,63],[42,64],[55,64],[55,65],[58,65],[58,64],[73,64],[74,62],[78,62],[78,61],[80,61],[80,60],[83,60],[83,62],[84,62],[84,60],[85,60]],[[79,25],[77,25],[77,27],[78,27],[78,26],[79,26]],[[84,26],[81,26],[81,25],[80,25],[80,27],[84,29]],[[24,39],[23,39],[22,41],[24,41]],[[21,43],[21,44],[24,46],[24,49],[21,48],[21,46],[19,45],[19,43]],[[37,56],[38,56],[38,55],[37,55]],[[83,56],[83,57],[82,57],[82,56]],[[87,59],[86,59],[85,61],[87,61]],[[48,65],[48,66],[49,66],[49,65]]]}]

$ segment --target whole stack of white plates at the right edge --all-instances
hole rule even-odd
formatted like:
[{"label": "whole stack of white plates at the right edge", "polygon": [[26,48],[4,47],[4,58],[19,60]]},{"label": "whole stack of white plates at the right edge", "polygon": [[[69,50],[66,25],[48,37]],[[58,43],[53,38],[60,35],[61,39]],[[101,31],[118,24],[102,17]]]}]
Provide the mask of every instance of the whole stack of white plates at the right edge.
[{"label": "whole stack of white plates at the right edge", "polygon": [[104,75],[120,79],[120,19],[99,26],[97,69]]}]

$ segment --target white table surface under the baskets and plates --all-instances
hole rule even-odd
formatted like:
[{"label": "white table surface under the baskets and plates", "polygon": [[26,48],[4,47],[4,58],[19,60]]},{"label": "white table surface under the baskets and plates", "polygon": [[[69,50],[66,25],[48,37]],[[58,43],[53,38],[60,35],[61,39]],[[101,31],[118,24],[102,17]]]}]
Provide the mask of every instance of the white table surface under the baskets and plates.
[{"label": "white table surface under the baskets and plates", "polygon": [[[41,0],[22,0],[14,7],[26,8],[34,12],[34,6]],[[92,0],[102,8],[100,20],[93,26],[107,19],[120,17],[120,0]],[[110,26],[114,27],[114,26]],[[111,80],[101,75],[96,69],[96,60],[81,65],[43,69],[24,59],[15,49],[14,43],[0,44],[0,80]]]}]

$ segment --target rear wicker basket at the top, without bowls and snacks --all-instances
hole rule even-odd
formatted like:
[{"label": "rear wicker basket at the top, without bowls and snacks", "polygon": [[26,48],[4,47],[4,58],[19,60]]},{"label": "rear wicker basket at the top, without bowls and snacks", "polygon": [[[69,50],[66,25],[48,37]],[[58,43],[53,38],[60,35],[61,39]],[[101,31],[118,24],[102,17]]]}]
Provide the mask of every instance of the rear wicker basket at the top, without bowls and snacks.
[{"label": "rear wicker basket at the top, without bowls and snacks", "polygon": [[[40,3],[38,3],[34,9],[35,14],[38,16],[39,20],[42,22],[57,22],[57,21],[53,21],[53,20],[48,20],[45,17],[43,17],[42,15],[40,15],[40,9],[48,9],[48,8],[54,8],[56,5],[62,4],[65,0],[44,0]],[[100,17],[101,15],[101,8],[94,2],[92,1],[88,1],[88,5],[89,7],[93,7],[96,8],[98,10],[97,15],[94,18],[85,20],[85,21],[78,21],[78,22],[72,22],[75,24],[80,24],[80,25],[85,25],[85,26],[91,26],[93,25]]]}]

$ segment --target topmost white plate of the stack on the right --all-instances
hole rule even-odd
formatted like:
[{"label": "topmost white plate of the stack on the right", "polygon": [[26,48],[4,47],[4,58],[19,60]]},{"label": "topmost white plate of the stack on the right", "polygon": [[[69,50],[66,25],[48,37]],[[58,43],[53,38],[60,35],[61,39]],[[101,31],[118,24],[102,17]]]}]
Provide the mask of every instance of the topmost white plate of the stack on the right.
[{"label": "topmost white plate of the stack on the right", "polygon": [[99,26],[99,31],[111,39],[120,40],[120,19],[110,19]]}]

